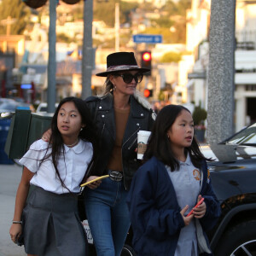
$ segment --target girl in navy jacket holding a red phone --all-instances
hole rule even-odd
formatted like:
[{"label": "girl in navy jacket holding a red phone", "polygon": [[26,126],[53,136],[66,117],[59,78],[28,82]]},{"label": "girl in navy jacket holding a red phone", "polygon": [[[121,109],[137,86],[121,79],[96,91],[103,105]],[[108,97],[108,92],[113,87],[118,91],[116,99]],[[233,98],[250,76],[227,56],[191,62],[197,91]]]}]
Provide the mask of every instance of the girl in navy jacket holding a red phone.
[{"label": "girl in navy jacket holding a red phone", "polygon": [[220,207],[187,108],[160,110],[143,159],[127,197],[137,255],[211,255],[205,231]]}]

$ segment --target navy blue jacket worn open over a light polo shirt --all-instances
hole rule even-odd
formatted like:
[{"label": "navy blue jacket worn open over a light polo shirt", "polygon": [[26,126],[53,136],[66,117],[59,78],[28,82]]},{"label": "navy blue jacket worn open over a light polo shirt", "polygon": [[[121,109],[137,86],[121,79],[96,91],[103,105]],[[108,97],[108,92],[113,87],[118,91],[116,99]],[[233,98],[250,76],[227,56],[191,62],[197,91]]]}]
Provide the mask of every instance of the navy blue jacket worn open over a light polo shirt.
[{"label": "navy blue jacket worn open over a light polo shirt", "polygon": [[[203,162],[200,195],[205,198],[207,212],[200,219],[200,224],[207,247],[209,243],[205,231],[212,229],[220,215],[220,206],[208,173],[207,164]],[[153,157],[138,169],[132,179],[127,203],[137,255],[174,255],[184,222],[171,178],[160,160]]]}]

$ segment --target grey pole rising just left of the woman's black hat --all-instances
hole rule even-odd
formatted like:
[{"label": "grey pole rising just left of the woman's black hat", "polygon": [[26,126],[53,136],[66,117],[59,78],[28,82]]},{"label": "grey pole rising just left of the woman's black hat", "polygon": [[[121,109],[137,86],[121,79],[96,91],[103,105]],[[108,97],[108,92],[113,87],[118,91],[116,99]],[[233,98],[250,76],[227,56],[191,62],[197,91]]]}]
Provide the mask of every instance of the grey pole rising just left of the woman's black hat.
[{"label": "grey pole rising just left of the woman's black hat", "polygon": [[84,39],[82,58],[82,99],[91,96],[93,0],[84,0]]}]

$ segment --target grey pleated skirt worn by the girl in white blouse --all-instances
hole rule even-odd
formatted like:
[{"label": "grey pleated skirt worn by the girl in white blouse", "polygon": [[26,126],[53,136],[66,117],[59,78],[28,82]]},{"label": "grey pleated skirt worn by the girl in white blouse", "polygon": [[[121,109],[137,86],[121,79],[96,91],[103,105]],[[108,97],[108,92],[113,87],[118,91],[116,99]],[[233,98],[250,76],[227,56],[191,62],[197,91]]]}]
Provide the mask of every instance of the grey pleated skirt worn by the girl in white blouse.
[{"label": "grey pleated skirt worn by the girl in white blouse", "polygon": [[25,252],[38,256],[84,256],[87,241],[75,195],[35,187],[23,210]]}]

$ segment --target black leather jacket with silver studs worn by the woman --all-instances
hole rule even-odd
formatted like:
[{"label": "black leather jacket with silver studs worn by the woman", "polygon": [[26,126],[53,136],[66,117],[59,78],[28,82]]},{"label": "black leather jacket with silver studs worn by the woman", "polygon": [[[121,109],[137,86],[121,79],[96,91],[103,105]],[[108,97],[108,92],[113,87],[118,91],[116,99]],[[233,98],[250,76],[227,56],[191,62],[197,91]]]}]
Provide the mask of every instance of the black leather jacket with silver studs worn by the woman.
[{"label": "black leather jacket with silver studs worn by the woman", "polygon": [[[110,159],[115,141],[115,119],[113,109],[113,95],[90,96],[85,100],[90,113],[96,122],[97,133],[100,140],[100,154],[96,157],[90,175],[102,176],[107,174],[108,160]],[[122,144],[122,165],[125,189],[130,188],[131,178],[141,164],[137,160],[137,132],[151,131],[154,124],[155,113],[152,109],[144,108],[134,96],[130,98],[131,113],[127,120],[125,135]]]}]

